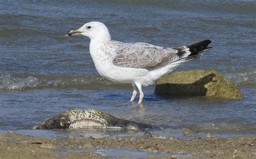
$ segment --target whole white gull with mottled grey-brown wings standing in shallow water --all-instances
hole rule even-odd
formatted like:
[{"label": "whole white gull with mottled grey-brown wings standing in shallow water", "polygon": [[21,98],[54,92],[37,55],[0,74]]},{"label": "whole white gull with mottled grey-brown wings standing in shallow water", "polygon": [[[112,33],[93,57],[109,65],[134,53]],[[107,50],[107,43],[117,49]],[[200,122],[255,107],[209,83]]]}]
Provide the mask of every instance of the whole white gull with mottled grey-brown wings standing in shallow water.
[{"label": "whole white gull with mottled grey-brown wings standing in shallow water", "polygon": [[89,22],[77,30],[70,30],[65,36],[81,34],[90,38],[90,54],[96,70],[113,82],[132,84],[133,101],[139,90],[139,104],[144,94],[142,86],[169,74],[175,68],[193,59],[200,58],[211,40],[179,47],[161,47],[147,43],[122,43],[111,40],[109,30],[100,22]]}]

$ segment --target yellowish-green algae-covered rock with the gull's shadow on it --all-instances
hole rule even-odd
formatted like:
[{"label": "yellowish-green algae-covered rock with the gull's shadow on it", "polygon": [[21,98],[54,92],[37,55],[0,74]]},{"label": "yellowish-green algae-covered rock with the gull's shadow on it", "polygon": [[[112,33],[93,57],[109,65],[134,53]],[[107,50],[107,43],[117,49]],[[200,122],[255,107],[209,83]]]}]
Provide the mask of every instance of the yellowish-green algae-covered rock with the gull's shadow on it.
[{"label": "yellowish-green algae-covered rock with the gull's shadow on it", "polygon": [[243,99],[239,88],[217,71],[181,71],[156,81],[156,94],[203,95],[221,99]]}]

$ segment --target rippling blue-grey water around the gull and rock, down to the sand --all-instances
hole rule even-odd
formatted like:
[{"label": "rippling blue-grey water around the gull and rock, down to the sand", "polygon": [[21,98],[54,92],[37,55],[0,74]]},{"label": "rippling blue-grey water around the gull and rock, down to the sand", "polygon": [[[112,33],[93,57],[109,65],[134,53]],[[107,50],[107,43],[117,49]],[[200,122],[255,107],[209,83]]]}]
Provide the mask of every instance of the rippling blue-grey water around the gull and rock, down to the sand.
[{"label": "rippling blue-grey water around the gull and rock, down to the sand", "polygon": [[[256,134],[255,1],[8,1],[0,8],[2,131],[47,137],[31,128],[70,108],[94,108],[163,127],[151,132],[170,137],[184,137],[184,128],[224,137]],[[130,85],[98,75],[89,39],[64,37],[92,20],[105,23],[112,39],[123,42],[176,47],[211,39],[213,50],[177,71],[217,70],[240,87],[245,99],[158,96],[149,86],[143,88],[143,106],[128,102]],[[53,131],[70,133],[83,134]]]}]

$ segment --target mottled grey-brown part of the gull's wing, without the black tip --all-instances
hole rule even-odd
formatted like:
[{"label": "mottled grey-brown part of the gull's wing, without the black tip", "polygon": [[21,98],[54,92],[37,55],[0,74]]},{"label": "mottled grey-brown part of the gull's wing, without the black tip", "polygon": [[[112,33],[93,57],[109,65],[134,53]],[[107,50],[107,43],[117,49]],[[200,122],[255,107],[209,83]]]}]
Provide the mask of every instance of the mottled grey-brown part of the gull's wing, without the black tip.
[{"label": "mottled grey-brown part of the gull's wing, without the black tip", "polygon": [[[145,45],[145,43],[139,43]],[[131,44],[130,47],[123,46],[116,50],[117,56],[113,64],[120,67],[145,68],[154,70],[177,61],[177,50],[163,47],[139,46]]]}]

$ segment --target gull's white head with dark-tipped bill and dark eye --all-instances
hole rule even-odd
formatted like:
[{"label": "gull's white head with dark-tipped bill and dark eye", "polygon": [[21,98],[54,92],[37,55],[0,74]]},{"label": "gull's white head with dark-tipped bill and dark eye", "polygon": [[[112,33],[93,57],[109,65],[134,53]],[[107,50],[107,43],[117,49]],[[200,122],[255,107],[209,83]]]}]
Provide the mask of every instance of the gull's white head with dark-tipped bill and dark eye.
[{"label": "gull's white head with dark-tipped bill and dark eye", "polygon": [[65,37],[81,34],[91,40],[110,40],[110,34],[107,27],[100,22],[89,22],[77,30],[70,30],[65,33]]}]

